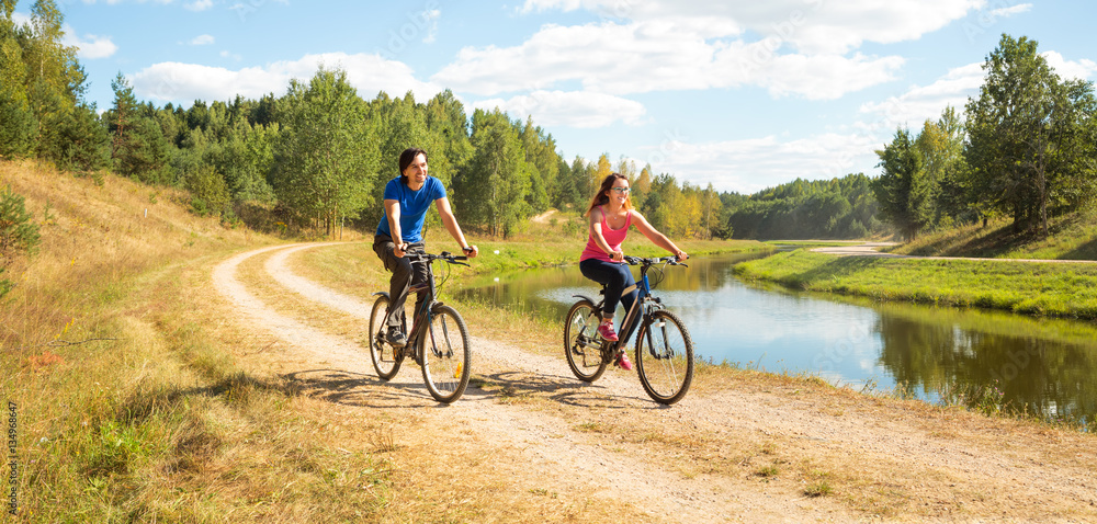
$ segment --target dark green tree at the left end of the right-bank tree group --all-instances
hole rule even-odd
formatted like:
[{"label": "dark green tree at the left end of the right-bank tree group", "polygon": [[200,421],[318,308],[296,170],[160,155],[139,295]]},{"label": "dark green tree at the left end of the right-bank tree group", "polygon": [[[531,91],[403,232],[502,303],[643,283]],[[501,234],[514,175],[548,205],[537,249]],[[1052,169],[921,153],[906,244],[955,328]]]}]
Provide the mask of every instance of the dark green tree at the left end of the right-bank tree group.
[{"label": "dark green tree at the left end of the right-bank tree group", "polygon": [[877,167],[883,168],[883,173],[873,181],[872,191],[880,202],[880,213],[906,240],[913,240],[932,217],[932,184],[926,178],[911,132],[896,130],[892,143],[877,155]]}]

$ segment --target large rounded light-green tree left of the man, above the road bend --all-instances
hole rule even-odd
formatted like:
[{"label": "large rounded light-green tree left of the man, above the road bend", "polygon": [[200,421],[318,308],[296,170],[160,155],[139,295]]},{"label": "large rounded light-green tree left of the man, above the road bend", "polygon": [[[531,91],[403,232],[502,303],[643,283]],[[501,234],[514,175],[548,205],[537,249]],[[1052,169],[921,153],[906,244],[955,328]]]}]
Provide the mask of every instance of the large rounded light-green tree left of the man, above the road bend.
[{"label": "large rounded light-green tree left of the man, above the road bend", "polygon": [[365,102],[342,70],[316,72],[308,86],[292,80],[285,127],[271,173],[274,194],[330,235],[340,217],[358,217],[373,202],[377,150]]}]

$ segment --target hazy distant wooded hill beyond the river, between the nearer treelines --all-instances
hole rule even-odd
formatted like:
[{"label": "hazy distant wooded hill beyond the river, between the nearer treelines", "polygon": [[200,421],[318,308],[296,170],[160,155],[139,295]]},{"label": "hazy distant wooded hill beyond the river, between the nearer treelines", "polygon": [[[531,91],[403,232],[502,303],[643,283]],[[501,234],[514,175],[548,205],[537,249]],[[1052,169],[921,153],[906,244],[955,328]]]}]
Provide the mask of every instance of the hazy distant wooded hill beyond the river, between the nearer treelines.
[{"label": "hazy distant wooded hill beyond the river, between the nearer treelines", "polygon": [[727,231],[749,239],[856,239],[883,233],[871,179],[796,179],[749,196],[724,193]]}]

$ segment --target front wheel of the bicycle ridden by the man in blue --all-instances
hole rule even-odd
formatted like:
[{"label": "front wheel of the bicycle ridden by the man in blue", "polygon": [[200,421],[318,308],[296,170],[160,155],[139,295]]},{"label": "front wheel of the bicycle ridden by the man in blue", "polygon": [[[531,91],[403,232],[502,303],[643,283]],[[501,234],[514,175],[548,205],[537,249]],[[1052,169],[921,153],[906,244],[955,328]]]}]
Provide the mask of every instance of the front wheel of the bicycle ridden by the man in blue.
[{"label": "front wheel of the bicycle ridden by the man in blue", "polygon": [[468,386],[472,349],[464,319],[450,306],[431,309],[430,326],[419,338],[422,379],[434,400],[450,403]]}]

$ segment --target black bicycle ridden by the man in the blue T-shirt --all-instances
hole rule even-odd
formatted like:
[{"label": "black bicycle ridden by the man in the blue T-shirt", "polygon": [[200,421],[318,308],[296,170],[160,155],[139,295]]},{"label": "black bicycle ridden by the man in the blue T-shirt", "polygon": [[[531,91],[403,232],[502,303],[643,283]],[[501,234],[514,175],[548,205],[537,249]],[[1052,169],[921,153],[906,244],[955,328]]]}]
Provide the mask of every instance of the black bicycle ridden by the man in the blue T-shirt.
[{"label": "black bicycle ridden by the man in the blue T-shirt", "polygon": [[[468,265],[463,260],[467,257],[453,255],[445,251],[441,254],[426,252],[407,253],[412,264],[427,264],[427,282],[411,286],[412,293],[427,292],[422,306],[415,312],[411,331],[407,330],[407,316],[400,328],[407,335],[404,348],[394,348],[385,338],[388,306],[392,299],[386,292],[374,293],[377,299],[370,311],[370,358],[377,376],[389,380],[400,369],[400,364],[408,355],[422,368],[422,379],[427,390],[434,400],[451,403],[461,398],[468,386],[472,350],[468,343],[468,328],[456,309],[436,300],[438,288],[431,265],[441,260],[450,264]],[[442,283],[445,282],[443,276]]]}]

